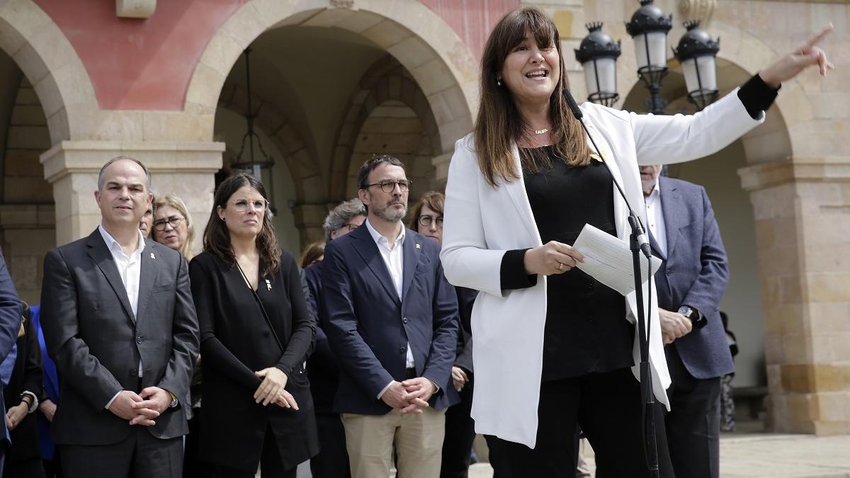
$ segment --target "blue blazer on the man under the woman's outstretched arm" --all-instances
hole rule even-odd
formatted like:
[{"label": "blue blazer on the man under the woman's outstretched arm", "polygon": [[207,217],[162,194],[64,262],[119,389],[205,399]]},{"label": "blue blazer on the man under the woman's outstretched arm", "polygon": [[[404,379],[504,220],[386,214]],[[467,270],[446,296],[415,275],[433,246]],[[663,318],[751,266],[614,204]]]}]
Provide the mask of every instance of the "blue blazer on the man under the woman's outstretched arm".
[{"label": "blue blazer on the man under the woman's outstretched arm", "polygon": [[699,310],[706,326],[673,341],[694,378],[715,378],[734,372],[732,355],[720,321],[720,299],[729,270],[720,229],[706,190],[680,179],[660,177],[661,211],[667,236],[666,257],[655,273],[658,306],[676,311],[682,305]]}]

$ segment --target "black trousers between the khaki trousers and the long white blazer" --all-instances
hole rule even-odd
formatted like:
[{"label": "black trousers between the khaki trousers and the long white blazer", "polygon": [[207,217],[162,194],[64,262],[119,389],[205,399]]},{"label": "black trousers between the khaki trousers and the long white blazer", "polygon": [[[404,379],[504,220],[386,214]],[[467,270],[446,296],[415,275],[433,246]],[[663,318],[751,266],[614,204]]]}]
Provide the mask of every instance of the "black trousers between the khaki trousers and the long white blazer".
[{"label": "black trousers between the khaki trousers and the long white blazer", "polygon": [[475,440],[475,420],[469,416],[473,409],[473,374],[461,389],[461,402],[445,412],[445,439],[440,478],[467,478],[469,458]]}]

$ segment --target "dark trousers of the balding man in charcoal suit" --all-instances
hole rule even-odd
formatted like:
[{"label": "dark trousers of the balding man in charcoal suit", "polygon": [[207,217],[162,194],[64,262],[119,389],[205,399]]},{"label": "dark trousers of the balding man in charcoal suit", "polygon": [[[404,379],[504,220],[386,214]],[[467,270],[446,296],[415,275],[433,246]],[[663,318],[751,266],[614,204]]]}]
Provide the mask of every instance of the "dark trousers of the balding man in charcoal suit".
[{"label": "dark trousers of the balding man in charcoal suit", "polygon": [[59,445],[67,478],[179,478],[183,437],[161,440],[133,425],[127,438],[111,445]]}]

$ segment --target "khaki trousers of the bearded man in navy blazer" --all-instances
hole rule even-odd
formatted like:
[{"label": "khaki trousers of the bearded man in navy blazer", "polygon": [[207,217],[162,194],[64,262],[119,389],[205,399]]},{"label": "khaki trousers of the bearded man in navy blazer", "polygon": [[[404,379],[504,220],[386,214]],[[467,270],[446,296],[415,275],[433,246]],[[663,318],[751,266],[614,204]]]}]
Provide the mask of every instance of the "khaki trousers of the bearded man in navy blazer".
[{"label": "khaki trousers of the bearded man in navy blazer", "polygon": [[442,460],[445,409],[425,408],[421,415],[343,413],[352,478],[389,477],[393,446],[401,478],[436,478]]}]

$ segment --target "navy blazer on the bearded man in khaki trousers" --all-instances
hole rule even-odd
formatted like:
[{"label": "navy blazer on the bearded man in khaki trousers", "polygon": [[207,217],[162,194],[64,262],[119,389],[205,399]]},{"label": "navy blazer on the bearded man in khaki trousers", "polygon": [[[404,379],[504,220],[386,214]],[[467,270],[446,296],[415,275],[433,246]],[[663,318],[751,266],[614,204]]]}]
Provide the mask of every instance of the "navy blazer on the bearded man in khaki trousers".
[{"label": "navy blazer on the bearded man in khaki trousers", "polygon": [[322,262],[320,318],[342,365],[334,409],[382,415],[377,395],[405,379],[407,344],[416,375],[439,386],[429,404],[460,401],[451,386],[457,344],[457,297],[445,280],[439,244],[406,230],[402,299],[367,227],[328,242]]}]

